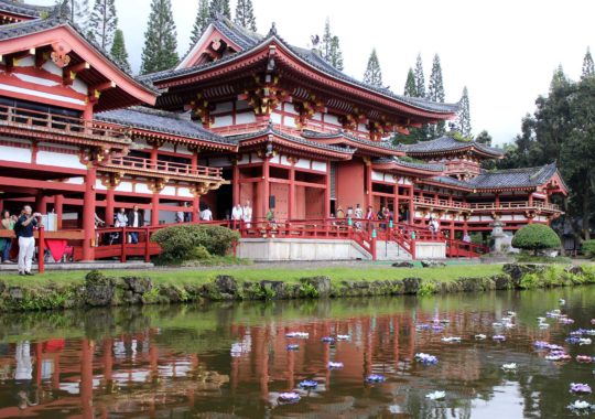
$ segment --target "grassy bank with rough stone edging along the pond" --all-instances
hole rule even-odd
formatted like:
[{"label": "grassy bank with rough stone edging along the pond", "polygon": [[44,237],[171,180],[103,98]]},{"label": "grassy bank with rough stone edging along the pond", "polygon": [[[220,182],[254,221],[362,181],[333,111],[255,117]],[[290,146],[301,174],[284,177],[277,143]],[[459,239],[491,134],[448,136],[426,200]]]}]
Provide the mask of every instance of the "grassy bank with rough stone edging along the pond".
[{"label": "grassy bank with rough stone edging along the pond", "polygon": [[530,264],[51,272],[33,278],[0,277],[0,312],[204,301],[424,297],[588,283],[595,283],[595,267]]}]

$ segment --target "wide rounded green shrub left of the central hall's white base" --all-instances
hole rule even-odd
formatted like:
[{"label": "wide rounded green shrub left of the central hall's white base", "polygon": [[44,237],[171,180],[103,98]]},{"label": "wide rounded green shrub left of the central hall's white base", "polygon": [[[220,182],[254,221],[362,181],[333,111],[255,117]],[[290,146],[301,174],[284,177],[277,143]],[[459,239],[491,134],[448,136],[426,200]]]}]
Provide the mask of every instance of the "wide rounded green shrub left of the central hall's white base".
[{"label": "wide rounded green shrub left of the central hall's white base", "polygon": [[[153,234],[151,241],[159,244],[163,258],[190,260],[198,256],[225,256],[239,234],[227,227],[210,225],[180,225],[165,227]],[[199,249],[202,247],[203,249]]]}]

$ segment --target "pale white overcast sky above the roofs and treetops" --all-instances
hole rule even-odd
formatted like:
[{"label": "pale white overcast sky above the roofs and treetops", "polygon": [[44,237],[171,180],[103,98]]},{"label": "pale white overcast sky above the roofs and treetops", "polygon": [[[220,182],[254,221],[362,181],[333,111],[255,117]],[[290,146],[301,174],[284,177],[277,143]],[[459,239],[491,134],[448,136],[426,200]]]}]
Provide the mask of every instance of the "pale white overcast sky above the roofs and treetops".
[{"label": "pale white overcast sky above the roofs and treetops", "polygon": [[[31,0],[53,4],[55,0]],[[94,0],[89,0],[93,3]],[[130,61],[140,67],[150,0],[116,0]],[[188,49],[198,0],[172,0],[178,53]],[[236,0],[231,0],[231,10]],[[361,78],[372,47],[382,77],[402,94],[407,72],[421,53],[425,80],[440,55],[446,101],[469,90],[473,131],[486,129],[495,142],[511,141],[521,118],[547,94],[562,64],[581,75],[587,46],[595,49],[594,0],[253,0],[259,33],[271,22],[296,46],[322,35],[326,17],[339,36],[345,71]]]}]

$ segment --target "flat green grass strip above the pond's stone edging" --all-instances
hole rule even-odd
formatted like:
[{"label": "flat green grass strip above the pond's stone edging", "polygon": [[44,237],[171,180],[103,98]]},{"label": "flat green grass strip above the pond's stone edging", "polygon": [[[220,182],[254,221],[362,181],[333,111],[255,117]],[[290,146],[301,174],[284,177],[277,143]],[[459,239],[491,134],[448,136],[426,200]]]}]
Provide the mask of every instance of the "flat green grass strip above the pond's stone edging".
[{"label": "flat green grass strip above the pond's stone edging", "polygon": [[[408,277],[419,277],[432,280],[455,280],[461,277],[487,277],[501,273],[501,265],[451,265],[443,268],[392,268],[386,265],[366,264],[361,267],[288,267],[279,266],[247,266],[240,268],[207,268],[207,269],[151,269],[151,270],[106,270],[104,273],[111,277],[142,276],[150,277],[154,283],[205,283],[213,280],[218,275],[230,275],[238,280],[261,281],[282,280],[285,282],[296,282],[300,278],[327,276],[333,281],[376,281],[394,280]],[[8,284],[28,282],[29,284],[50,283],[67,284],[72,282],[83,282],[87,271],[48,271],[34,277],[19,277],[17,275],[2,275],[0,280]]]}]

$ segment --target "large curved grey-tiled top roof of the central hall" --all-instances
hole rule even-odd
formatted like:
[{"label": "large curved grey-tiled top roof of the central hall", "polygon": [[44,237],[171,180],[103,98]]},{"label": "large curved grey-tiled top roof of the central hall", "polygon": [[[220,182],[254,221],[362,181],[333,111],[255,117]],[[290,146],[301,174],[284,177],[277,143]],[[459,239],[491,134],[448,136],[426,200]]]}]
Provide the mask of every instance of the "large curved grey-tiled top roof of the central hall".
[{"label": "large curved grey-tiled top roof of the central hall", "polygon": [[322,71],[323,73],[326,73],[328,76],[332,76],[334,78],[342,79],[349,84],[356,85],[367,90],[371,90],[379,95],[386,96],[390,99],[398,100],[400,103],[407,104],[409,106],[415,107],[424,111],[430,111],[430,112],[435,112],[435,114],[454,114],[458,109],[458,104],[440,104],[440,103],[434,103],[434,101],[422,99],[422,98],[412,98],[412,97],[407,97],[402,95],[397,95],[392,93],[391,90],[389,90],[388,88],[371,86],[369,84],[355,79],[354,77],[350,77],[342,73],[340,71],[336,69],[333,65],[326,62],[316,51],[290,45],[277,34],[277,30],[274,29],[274,26],[271,28],[271,31],[269,32],[267,36],[261,36],[253,32],[247,31],[246,29],[235,24],[229,19],[221,15],[217,15],[216,18],[214,18],[212,20],[212,24],[216,29],[218,29],[223,34],[229,37],[229,40],[236,42],[238,46],[241,46],[244,51],[236,54],[228,55],[226,57],[223,57],[212,63],[201,64],[201,65],[196,65],[196,66],[192,66],[187,68],[169,69],[169,71],[159,72],[159,73],[148,74],[145,76],[142,76],[142,79],[148,80],[148,82],[156,82],[156,80],[164,80],[172,77],[178,77],[183,75],[199,73],[204,69],[215,67],[226,62],[241,57],[242,55],[250,53],[251,51],[262,45],[266,45],[269,42],[274,40],[279,42],[280,44],[282,44],[283,46],[285,46],[296,57],[301,58],[305,63],[317,68],[318,71]]}]

